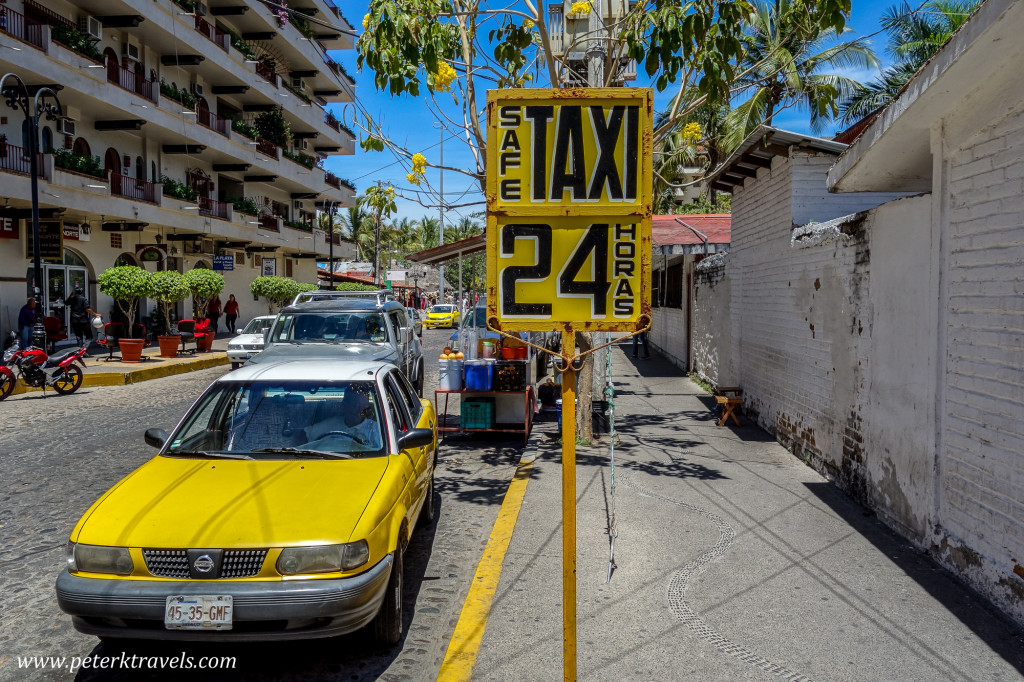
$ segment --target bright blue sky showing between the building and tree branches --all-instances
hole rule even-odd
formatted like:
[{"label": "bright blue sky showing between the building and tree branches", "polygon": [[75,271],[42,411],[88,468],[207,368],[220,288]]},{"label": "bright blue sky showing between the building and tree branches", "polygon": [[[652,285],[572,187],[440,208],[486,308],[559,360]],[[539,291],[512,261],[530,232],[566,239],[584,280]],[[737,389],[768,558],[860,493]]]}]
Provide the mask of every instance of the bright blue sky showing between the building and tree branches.
[{"label": "bright blue sky showing between the building and tree branches", "polygon": [[[879,17],[886,8],[897,3],[897,0],[853,0],[853,11],[848,22],[851,33],[848,37],[863,36],[879,31]],[[367,0],[346,0],[338,3],[345,16],[354,25],[356,31],[361,31],[362,15],[367,12]],[[546,3],[547,4],[547,3]],[[886,59],[885,46],[887,36],[884,33],[871,38],[871,45],[880,58]],[[373,73],[369,70],[357,73],[355,69],[355,50],[332,50],[332,58],[340,61],[348,70],[348,73],[355,77],[356,96],[361,106],[374,117],[374,120],[381,123],[385,130],[389,131],[390,137],[404,145],[413,152],[421,152],[430,162],[436,162],[439,157],[439,130],[434,115],[428,111],[425,97],[392,97],[386,92],[378,92],[374,87]],[[851,73],[851,77],[860,80],[870,80],[874,74]],[[637,86],[645,86],[648,83],[638,81]],[[425,90],[425,88],[424,88]],[[668,91],[664,94],[655,92],[655,110],[664,108],[671,95]],[[438,98],[446,95],[438,95]],[[451,104],[451,99],[447,99]],[[341,105],[332,105],[332,111],[339,118],[343,114],[350,114]],[[449,108],[450,114],[456,112],[454,105]],[[459,110],[461,111],[461,110]],[[349,117],[346,117],[349,118]],[[458,118],[461,118],[459,114]],[[775,124],[778,127],[797,132],[810,132],[807,125],[807,114],[796,110],[786,110],[776,116]],[[355,126],[352,126],[355,129]],[[472,168],[472,158],[468,147],[459,139],[446,137],[444,141],[444,165],[457,166],[461,168]],[[355,146],[355,156],[334,156],[327,161],[328,170],[337,173],[341,177],[348,178],[355,182],[358,194],[374,182],[383,180],[392,182],[399,191],[412,196],[417,189],[406,180],[406,173],[409,172],[407,166],[400,164],[389,152],[362,152],[358,143]],[[438,173],[436,170],[428,169],[427,178],[432,186],[437,186]],[[452,209],[445,213],[445,224],[458,221],[463,216],[468,216],[475,211],[482,211],[482,195],[477,190],[475,182],[465,175],[446,172],[444,173],[444,195],[447,204],[466,204],[470,202],[481,202],[477,206],[461,207]],[[427,203],[436,204],[435,200]],[[424,215],[436,217],[438,209],[436,206],[425,208],[419,204],[399,199],[397,201],[398,212],[395,218],[411,218],[417,220]]]}]

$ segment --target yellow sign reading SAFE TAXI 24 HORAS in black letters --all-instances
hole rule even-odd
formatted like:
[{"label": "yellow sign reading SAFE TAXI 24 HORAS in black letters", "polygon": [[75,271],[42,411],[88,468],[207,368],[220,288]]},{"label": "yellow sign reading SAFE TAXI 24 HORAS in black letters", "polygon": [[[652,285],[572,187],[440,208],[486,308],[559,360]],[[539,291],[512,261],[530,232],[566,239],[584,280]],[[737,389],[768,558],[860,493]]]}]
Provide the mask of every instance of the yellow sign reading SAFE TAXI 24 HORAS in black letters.
[{"label": "yellow sign reading SAFE TAXI 24 HORAS in black letters", "polygon": [[487,93],[487,306],[503,330],[650,313],[649,89]]}]

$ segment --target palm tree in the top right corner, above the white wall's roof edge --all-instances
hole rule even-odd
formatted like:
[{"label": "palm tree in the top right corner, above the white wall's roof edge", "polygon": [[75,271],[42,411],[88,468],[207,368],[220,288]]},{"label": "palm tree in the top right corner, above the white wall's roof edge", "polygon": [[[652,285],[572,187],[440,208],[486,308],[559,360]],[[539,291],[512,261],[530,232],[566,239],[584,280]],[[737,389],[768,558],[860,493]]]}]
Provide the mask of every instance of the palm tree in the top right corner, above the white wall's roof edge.
[{"label": "palm tree in the top right corner, above the white wall's roof edge", "polygon": [[896,98],[903,86],[967,22],[981,0],[932,0],[916,10],[907,2],[882,15],[894,63],[876,80],[857,87],[840,104],[842,121],[853,124]]}]

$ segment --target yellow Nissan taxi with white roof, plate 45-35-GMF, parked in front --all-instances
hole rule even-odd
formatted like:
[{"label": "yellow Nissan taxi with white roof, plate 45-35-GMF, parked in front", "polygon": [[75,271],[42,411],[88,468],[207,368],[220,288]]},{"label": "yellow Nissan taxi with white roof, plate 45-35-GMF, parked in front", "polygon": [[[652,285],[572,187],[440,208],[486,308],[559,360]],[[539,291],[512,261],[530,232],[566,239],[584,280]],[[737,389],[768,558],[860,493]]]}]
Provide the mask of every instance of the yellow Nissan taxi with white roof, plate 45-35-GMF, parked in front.
[{"label": "yellow Nissan taxi with white roof, plate 45-35-GMF, parked in front", "polygon": [[402,552],[433,519],[436,418],[383,363],[214,382],[79,520],[57,603],[112,638],[284,640],[402,628]]}]

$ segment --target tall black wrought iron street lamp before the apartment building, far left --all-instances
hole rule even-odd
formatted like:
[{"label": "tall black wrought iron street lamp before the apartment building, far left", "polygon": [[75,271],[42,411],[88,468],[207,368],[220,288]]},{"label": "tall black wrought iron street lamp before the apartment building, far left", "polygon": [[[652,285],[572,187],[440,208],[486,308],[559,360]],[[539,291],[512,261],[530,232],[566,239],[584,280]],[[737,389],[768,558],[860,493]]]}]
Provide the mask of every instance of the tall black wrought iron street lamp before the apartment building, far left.
[{"label": "tall black wrought iron street lamp before the apartment building, far left", "polygon": [[[14,81],[9,84],[8,81]],[[36,325],[33,329],[34,345],[44,348],[46,330],[43,327],[43,266],[39,254],[39,117],[45,116],[47,121],[56,121],[63,114],[57,93],[47,87],[36,90],[35,97],[29,97],[29,88],[25,81],[15,74],[4,74],[0,78],[0,95],[8,106],[25,113],[26,135],[29,146],[29,168],[32,174],[32,263],[33,293],[36,297]],[[52,101],[49,101],[52,99]]]}]

